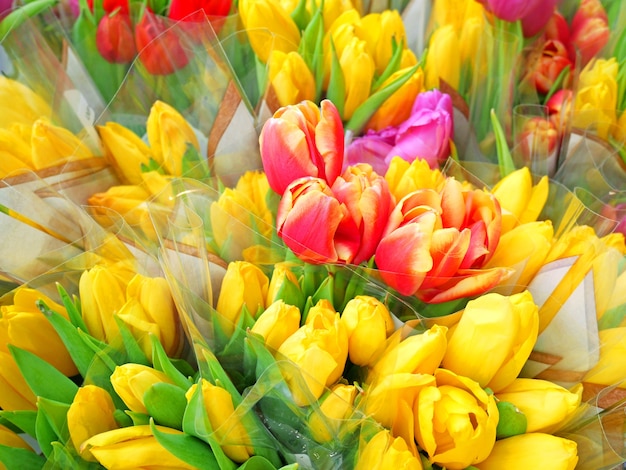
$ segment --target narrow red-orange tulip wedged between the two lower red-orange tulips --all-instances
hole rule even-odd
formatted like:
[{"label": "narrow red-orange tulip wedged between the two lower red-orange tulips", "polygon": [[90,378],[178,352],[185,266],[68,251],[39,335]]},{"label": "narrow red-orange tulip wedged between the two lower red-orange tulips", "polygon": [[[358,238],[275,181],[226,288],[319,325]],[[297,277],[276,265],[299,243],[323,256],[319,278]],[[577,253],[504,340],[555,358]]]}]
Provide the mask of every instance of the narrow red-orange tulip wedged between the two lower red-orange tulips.
[{"label": "narrow red-orange tulip wedged between the two lower red-orange tulips", "polygon": [[387,181],[371,166],[361,163],[348,167],[335,180],[332,191],[346,205],[358,227],[360,246],[352,263],[369,260],[376,251],[394,206]]}]

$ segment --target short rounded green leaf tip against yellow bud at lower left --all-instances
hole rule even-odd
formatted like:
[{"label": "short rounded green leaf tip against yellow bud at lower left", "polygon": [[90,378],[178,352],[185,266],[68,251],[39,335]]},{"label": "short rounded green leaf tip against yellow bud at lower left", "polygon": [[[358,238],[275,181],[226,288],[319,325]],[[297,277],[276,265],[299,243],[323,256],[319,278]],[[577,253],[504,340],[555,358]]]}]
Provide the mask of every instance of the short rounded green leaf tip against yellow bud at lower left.
[{"label": "short rounded green leaf tip against yellow bud at lower left", "polygon": [[180,387],[165,382],[155,383],[144,393],[143,403],[157,424],[183,429],[187,398]]}]

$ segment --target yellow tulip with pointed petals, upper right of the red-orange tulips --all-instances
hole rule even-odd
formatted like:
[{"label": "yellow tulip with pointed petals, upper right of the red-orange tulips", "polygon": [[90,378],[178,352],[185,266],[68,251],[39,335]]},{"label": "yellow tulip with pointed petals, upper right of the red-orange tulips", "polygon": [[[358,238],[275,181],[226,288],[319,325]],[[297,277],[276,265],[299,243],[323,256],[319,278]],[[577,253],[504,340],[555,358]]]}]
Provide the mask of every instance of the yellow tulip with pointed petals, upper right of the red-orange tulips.
[{"label": "yellow tulip with pointed petals, upper right of the red-orange tulips", "polygon": [[502,178],[491,193],[502,209],[502,233],[518,224],[534,222],[548,199],[548,177],[533,186],[528,167],[520,168]]}]

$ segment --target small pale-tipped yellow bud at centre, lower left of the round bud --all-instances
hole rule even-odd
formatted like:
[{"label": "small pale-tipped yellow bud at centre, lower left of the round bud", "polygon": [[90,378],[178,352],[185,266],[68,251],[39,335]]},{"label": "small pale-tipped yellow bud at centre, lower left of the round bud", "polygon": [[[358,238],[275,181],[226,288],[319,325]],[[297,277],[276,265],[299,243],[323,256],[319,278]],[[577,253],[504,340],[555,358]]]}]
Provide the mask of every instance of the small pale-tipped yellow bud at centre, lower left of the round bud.
[{"label": "small pale-tipped yellow bud at centre, lower left of the round bud", "polygon": [[263,336],[265,346],[272,352],[300,328],[300,310],[276,300],[259,315],[250,331]]}]

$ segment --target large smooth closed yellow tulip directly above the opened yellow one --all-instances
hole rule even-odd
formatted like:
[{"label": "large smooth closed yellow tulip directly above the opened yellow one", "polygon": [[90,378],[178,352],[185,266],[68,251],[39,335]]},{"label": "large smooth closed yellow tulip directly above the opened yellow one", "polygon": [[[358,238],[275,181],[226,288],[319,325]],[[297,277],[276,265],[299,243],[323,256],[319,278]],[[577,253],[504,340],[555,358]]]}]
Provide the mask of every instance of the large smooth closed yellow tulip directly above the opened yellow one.
[{"label": "large smooth closed yellow tulip directly above the opened yellow one", "polygon": [[451,330],[442,365],[494,392],[520,373],[535,342],[537,305],[528,291],[506,297],[496,293],[471,300]]}]

